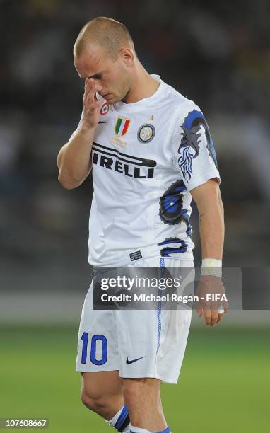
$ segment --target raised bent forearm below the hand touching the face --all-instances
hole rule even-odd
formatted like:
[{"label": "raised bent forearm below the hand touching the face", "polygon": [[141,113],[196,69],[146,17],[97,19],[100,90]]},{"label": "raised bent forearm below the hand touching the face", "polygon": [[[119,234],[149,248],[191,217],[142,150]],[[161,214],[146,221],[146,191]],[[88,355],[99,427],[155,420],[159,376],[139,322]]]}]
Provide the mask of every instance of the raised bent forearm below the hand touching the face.
[{"label": "raised bent forearm below the hand touching the face", "polygon": [[70,142],[59,151],[58,180],[67,189],[81,185],[90,173],[94,132],[95,128],[79,128]]}]

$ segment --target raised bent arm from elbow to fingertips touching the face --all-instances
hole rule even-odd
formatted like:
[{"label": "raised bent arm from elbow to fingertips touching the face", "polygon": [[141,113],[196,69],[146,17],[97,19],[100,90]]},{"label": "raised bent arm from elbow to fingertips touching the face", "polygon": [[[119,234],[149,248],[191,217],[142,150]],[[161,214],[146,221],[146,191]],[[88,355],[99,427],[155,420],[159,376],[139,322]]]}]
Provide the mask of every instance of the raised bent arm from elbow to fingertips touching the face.
[{"label": "raised bent arm from elbow to fingertips touching the face", "polygon": [[61,147],[57,156],[58,180],[68,190],[81,185],[92,168],[90,156],[100,110],[100,102],[95,98],[98,90],[93,79],[86,79],[81,122],[74,137]]}]

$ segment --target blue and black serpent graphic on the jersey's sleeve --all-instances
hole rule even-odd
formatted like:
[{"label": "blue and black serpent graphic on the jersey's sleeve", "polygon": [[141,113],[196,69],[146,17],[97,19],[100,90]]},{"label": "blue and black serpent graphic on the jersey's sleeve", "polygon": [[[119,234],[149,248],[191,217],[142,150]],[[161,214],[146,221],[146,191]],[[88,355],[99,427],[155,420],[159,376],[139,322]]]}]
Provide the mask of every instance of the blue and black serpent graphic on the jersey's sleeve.
[{"label": "blue and black serpent graphic on the jersey's sleeve", "polygon": [[194,158],[199,155],[202,133],[201,125],[203,125],[206,134],[206,149],[217,167],[216,152],[207,122],[200,111],[193,110],[189,112],[187,117],[184,119],[182,125],[182,139],[178,149],[178,153],[180,154],[178,165],[183,178],[187,180],[187,182],[193,174],[192,162]]}]

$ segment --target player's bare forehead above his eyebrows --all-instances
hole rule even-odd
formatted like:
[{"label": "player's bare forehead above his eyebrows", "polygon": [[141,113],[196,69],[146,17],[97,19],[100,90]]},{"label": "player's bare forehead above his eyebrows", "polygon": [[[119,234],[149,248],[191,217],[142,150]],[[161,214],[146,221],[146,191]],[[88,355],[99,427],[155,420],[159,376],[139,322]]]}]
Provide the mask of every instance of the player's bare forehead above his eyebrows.
[{"label": "player's bare forehead above his eyebrows", "polygon": [[100,73],[108,67],[110,59],[97,45],[89,45],[79,57],[74,59],[74,65],[81,76],[90,76]]}]

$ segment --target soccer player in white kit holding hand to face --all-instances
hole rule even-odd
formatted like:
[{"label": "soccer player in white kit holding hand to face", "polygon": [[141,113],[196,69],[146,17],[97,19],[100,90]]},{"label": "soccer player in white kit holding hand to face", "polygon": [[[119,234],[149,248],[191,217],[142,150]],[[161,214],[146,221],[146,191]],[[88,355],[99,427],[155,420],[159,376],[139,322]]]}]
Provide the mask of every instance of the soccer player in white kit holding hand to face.
[{"label": "soccer player in white kit holding hand to face", "polygon": [[[220,178],[199,107],[148,74],[129,31],[111,18],[95,18],[83,27],[74,65],[85,80],[83,112],[57,163],[66,189],[93,172],[89,262],[94,272],[193,267],[193,198],[200,217],[203,289],[213,279],[222,286],[220,270],[215,271],[223,253]],[[225,308],[198,306],[197,312],[206,325],[215,325]],[[95,310],[90,287],[76,364],[83,403],[119,432],[170,432],[160,383],[177,383],[191,313]]]}]

